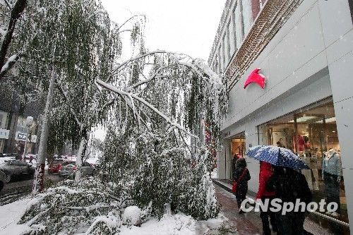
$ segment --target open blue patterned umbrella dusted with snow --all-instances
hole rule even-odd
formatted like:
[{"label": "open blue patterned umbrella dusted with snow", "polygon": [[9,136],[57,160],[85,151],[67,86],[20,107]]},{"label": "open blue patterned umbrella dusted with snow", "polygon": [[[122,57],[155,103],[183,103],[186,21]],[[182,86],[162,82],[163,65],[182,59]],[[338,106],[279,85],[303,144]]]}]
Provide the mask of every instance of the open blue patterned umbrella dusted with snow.
[{"label": "open blue patterned umbrella dusted with snow", "polygon": [[305,162],[284,147],[258,145],[251,147],[246,155],[258,161],[268,162],[278,167],[289,167],[292,169],[310,169]]}]

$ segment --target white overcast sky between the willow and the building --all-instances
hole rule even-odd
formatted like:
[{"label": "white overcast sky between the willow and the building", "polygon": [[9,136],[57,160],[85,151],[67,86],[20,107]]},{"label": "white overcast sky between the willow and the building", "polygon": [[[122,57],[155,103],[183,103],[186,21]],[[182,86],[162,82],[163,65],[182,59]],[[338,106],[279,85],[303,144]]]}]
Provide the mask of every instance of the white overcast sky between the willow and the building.
[{"label": "white overcast sky between the willow and the building", "polygon": [[183,52],[207,61],[225,0],[102,0],[102,4],[116,23],[145,15],[149,50]]}]

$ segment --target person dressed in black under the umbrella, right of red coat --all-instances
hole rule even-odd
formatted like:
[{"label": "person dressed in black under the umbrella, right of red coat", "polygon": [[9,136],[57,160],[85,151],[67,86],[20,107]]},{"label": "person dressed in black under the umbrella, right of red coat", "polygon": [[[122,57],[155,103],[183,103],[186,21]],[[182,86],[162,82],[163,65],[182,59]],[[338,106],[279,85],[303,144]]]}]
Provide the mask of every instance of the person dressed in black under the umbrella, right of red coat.
[{"label": "person dressed in black under the umbrella, right of red coat", "polygon": [[[311,202],[311,191],[305,176],[294,169],[273,166],[273,175],[268,179],[266,187],[275,191],[275,197],[280,198],[283,203],[296,203],[299,198],[301,202]],[[287,212],[282,215],[282,210],[277,212],[277,229],[281,235],[305,234],[304,212]]]}]

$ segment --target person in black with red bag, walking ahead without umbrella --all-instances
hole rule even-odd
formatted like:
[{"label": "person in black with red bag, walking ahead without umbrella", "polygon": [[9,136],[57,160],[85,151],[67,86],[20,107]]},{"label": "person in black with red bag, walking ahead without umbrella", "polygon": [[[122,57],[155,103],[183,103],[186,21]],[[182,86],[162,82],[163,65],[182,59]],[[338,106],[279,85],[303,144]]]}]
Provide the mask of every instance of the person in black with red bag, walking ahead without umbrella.
[{"label": "person in black with red bag, walking ahead without umbrella", "polygon": [[246,198],[246,193],[248,192],[248,181],[251,178],[249,170],[246,168],[245,158],[237,159],[233,177],[234,181],[237,181],[237,191],[235,192],[235,196],[237,197],[239,214],[242,214],[244,213],[244,210],[241,210],[240,206],[241,202]]}]

